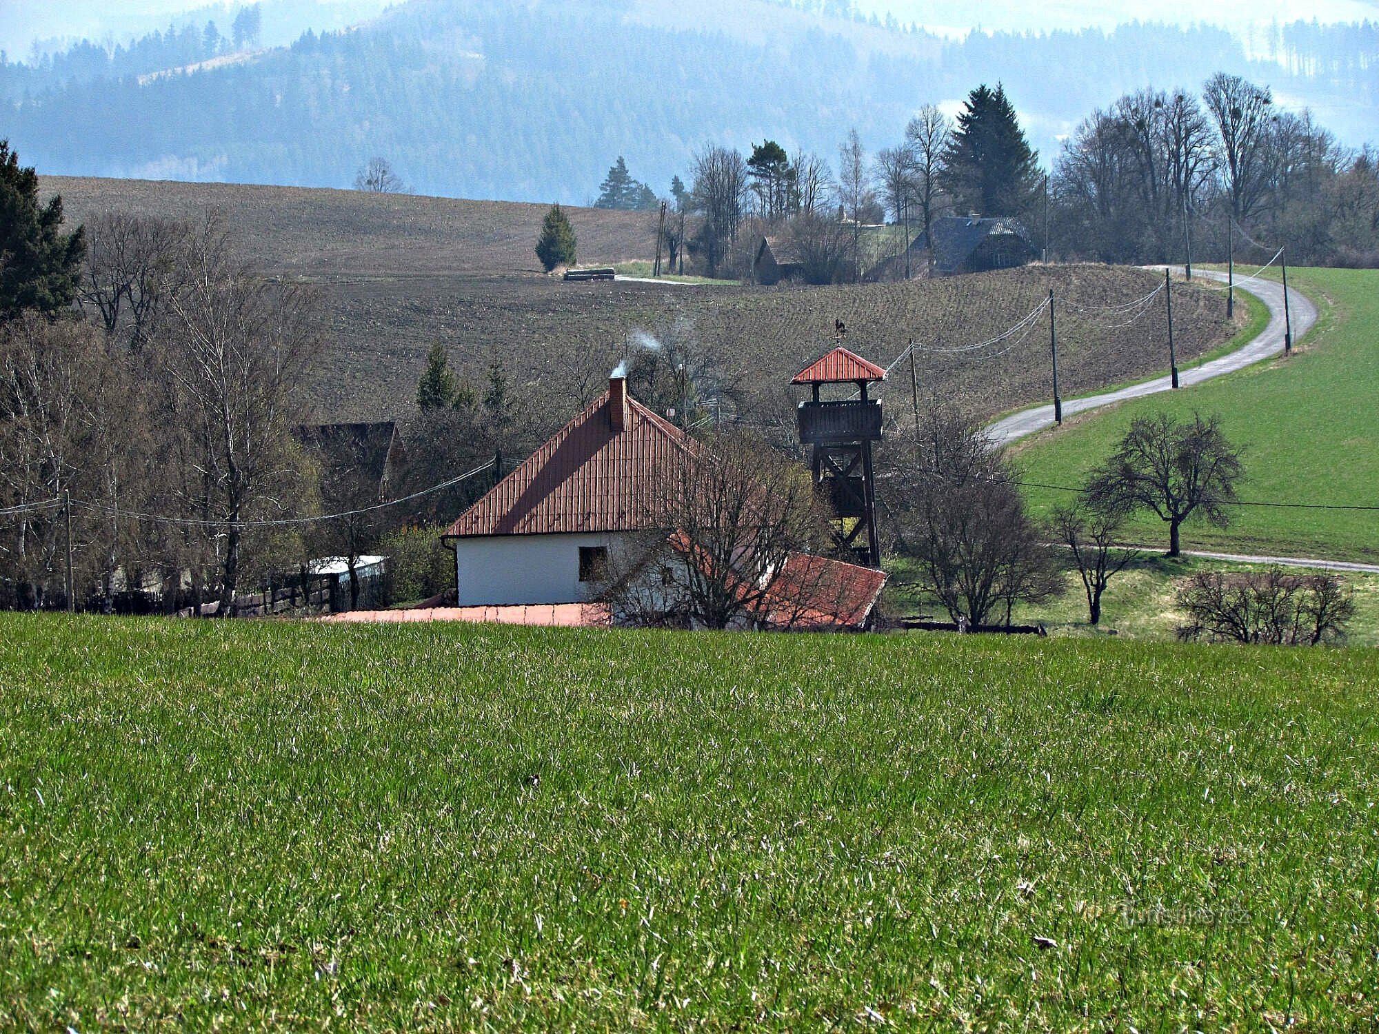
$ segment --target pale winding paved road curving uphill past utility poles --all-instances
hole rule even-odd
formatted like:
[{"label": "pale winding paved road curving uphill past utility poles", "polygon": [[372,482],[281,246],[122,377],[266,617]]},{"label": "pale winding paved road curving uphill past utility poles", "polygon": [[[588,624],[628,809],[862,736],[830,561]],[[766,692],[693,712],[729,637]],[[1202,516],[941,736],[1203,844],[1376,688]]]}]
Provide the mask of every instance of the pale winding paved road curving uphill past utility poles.
[{"label": "pale winding paved road curving uphill past utility poles", "polygon": [[[1162,269],[1162,266],[1158,266],[1158,269]],[[1220,280],[1222,283],[1226,280],[1225,273],[1216,273],[1205,269],[1196,270],[1193,276]],[[1249,294],[1255,295],[1255,298],[1262,301],[1269,307],[1269,325],[1260,331],[1258,338],[1244,347],[1227,353],[1220,358],[1214,358],[1211,363],[1204,363],[1200,367],[1180,371],[1178,375],[1178,383],[1182,387],[1200,385],[1202,381],[1211,381],[1214,376],[1234,372],[1251,365],[1252,363],[1258,363],[1262,358],[1277,356],[1284,350],[1282,285],[1276,284],[1271,280],[1251,280],[1248,287],[1241,287],[1237,280],[1236,290],[1249,291]],[[1298,341],[1303,334],[1311,330],[1311,325],[1317,321],[1317,306],[1311,303],[1310,298],[1303,296],[1296,288],[1289,287],[1288,310],[1292,316],[1294,341]],[[1172,378],[1165,375],[1157,376],[1153,381],[1145,381],[1139,385],[1131,385],[1129,387],[1121,387],[1116,392],[1094,394],[1085,398],[1067,398],[1063,401],[1063,416],[1071,416],[1073,414],[1095,409],[1100,405],[1110,405],[1111,403],[1123,403],[1127,398],[1140,398],[1146,394],[1154,394],[1157,392],[1171,392],[1172,387]],[[1034,432],[1052,426],[1054,405],[1049,403],[1048,405],[1036,405],[1033,409],[1022,409],[1020,412],[1011,414],[1009,416],[990,425],[986,429],[986,433],[992,437],[992,441],[997,447],[1003,447],[1016,438],[1023,438],[1026,434],[1033,434]]]}]

